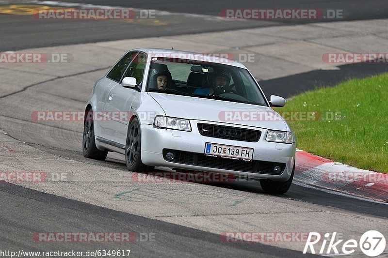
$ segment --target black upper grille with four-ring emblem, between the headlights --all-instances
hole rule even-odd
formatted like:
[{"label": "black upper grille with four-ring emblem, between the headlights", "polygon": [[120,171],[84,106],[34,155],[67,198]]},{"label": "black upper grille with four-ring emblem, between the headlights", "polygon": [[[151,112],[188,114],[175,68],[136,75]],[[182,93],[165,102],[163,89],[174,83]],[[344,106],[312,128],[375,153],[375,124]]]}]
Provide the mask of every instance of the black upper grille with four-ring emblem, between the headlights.
[{"label": "black upper grille with four-ring emblem, between the headlights", "polygon": [[237,141],[258,142],[261,131],[232,126],[198,123],[199,133],[203,136],[223,138]]}]

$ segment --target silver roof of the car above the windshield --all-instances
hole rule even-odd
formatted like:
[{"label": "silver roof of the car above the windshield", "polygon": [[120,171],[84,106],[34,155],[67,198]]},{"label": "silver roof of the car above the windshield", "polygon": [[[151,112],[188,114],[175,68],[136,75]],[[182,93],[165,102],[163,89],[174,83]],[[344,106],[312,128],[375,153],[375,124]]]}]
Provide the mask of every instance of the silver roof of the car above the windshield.
[{"label": "silver roof of the car above the windshield", "polygon": [[[142,51],[145,52],[147,55],[150,55],[151,57],[169,57],[173,58],[178,54],[183,54],[183,59],[189,59],[189,60],[195,60],[195,61],[209,61],[211,63],[219,63],[219,64],[226,64],[231,66],[236,66],[240,68],[246,69],[246,67],[237,61],[223,58],[223,55],[227,54],[233,55],[232,53],[196,53],[196,52],[188,52],[188,51],[182,51],[182,50],[175,50],[175,49],[165,49],[165,48],[136,48],[132,49],[130,51]],[[218,54],[218,55],[217,55]],[[221,56],[221,57],[220,57]],[[212,58],[211,58],[212,57]]]}]

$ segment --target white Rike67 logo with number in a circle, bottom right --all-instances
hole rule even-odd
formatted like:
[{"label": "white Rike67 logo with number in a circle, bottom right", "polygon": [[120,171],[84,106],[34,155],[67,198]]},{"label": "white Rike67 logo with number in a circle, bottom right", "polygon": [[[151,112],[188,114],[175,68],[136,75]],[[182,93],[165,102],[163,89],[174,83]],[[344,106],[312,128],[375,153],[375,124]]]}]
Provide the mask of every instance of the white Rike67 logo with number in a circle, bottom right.
[{"label": "white Rike67 logo with number in a circle, bottom right", "polygon": [[[375,257],[380,255],[384,252],[386,247],[386,241],[383,234],[381,234],[379,231],[376,230],[370,230],[365,232],[361,237],[360,240],[357,242],[355,239],[350,239],[344,243],[343,239],[336,238],[337,232],[333,232],[333,234],[330,237],[329,233],[324,234],[325,239],[323,239],[321,248],[319,246],[319,249],[314,249],[314,245],[319,243],[321,241],[321,234],[318,232],[310,232],[307,237],[307,242],[305,245],[305,248],[303,250],[303,253],[306,254],[307,250],[310,249],[312,254],[315,254],[316,251],[318,254],[334,254],[338,255],[339,251],[342,251],[342,254],[344,255],[350,255],[353,254],[356,251],[356,248],[359,247],[361,251],[369,256],[369,257]],[[335,242],[338,240],[337,242]],[[328,242],[327,248],[326,243]],[[340,248],[340,243],[342,243],[342,247]]]}]

